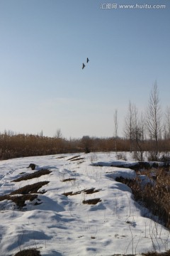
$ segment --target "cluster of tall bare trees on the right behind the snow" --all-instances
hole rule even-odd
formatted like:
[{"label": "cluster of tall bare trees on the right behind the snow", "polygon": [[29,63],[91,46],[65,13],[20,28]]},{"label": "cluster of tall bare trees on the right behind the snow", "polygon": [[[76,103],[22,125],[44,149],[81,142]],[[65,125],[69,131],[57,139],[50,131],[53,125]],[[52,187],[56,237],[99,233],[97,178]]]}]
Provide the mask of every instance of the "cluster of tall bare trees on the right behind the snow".
[{"label": "cluster of tall bare trees on the right behind the snow", "polygon": [[157,82],[149,95],[146,111],[139,113],[137,107],[129,103],[125,117],[125,138],[130,141],[130,151],[139,151],[142,160],[145,144],[149,142],[152,157],[157,159],[159,151],[169,151],[170,107],[163,113],[159,100]]}]

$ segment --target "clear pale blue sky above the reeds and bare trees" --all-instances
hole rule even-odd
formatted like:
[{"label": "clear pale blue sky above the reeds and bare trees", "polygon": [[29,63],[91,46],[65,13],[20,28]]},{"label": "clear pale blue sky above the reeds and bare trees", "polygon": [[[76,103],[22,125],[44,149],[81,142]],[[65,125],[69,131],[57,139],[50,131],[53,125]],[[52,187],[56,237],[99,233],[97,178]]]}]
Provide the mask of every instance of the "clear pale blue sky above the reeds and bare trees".
[{"label": "clear pale blue sky above the reeds and bare trees", "polygon": [[169,27],[169,0],[0,0],[0,131],[111,137],[117,109],[122,136],[129,101],[145,111],[155,80],[169,106]]}]

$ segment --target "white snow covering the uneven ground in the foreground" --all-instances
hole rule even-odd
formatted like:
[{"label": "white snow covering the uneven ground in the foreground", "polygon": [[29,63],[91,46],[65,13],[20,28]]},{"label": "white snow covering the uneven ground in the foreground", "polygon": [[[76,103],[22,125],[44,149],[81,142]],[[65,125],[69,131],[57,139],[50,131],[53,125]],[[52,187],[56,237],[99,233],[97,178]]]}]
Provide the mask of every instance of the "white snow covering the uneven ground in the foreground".
[{"label": "white snow covering the uneven ground in the foreground", "polygon": [[[74,158],[73,158],[74,157]],[[140,255],[170,249],[169,230],[147,218],[118,176],[133,178],[132,169],[115,153],[61,154],[10,159],[0,162],[0,196],[39,181],[49,181],[35,201],[18,209],[12,201],[0,201],[0,255],[38,248],[41,255]],[[36,164],[33,171],[30,163]],[[128,164],[134,164],[130,159]],[[50,174],[26,181],[13,180],[40,169]],[[69,181],[64,181],[69,179]],[[95,193],[86,193],[94,188]],[[75,193],[64,196],[63,193]],[[99,198],[96,205],[83,201]],[[40,203],[35,205],[35,203]]]}]

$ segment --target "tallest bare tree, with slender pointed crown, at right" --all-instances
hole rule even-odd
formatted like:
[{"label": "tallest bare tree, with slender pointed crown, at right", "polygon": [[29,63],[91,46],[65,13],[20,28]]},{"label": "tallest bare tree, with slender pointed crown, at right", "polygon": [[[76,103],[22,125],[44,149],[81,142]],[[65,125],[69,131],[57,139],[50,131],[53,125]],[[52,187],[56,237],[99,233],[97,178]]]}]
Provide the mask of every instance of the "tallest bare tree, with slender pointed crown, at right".
[{"label": "tallest bare tree, with slender pointed crown, at right", "polygon": [[154,83],[147,107],[147,132],[155,141],[155,153],[158,153],[158,141],[162,132],[162,110],[159,102],[157,82]]}]

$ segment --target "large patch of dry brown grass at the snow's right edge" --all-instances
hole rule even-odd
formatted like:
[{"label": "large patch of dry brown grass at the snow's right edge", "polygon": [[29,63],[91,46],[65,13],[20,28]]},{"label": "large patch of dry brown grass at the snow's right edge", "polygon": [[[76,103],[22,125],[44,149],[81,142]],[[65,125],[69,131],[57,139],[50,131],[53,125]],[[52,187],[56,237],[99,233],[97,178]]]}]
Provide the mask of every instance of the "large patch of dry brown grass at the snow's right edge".
[{"label": "large patch of dry brown grass at the snow's right edge", "polygon": [[132,189],[135,200],[157,215],[166,228],[170,229],[170,175],[163,169],[157,169],[153,179],[152,170],[145,174],[152,183],[143,185],[140,178],[130,180],[119,177],[115,180],[127,184]]}]

